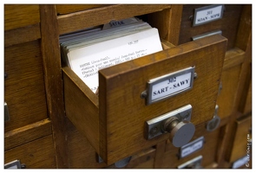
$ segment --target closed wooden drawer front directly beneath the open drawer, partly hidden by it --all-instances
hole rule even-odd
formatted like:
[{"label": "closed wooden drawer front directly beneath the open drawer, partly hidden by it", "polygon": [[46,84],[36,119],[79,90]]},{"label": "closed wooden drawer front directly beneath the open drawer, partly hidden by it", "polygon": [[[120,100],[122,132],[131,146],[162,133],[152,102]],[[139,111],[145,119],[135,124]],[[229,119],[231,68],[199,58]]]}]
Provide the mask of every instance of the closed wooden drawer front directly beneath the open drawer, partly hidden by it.
[{"label": "closed wooden drawer front directly beneath the open drawer, partly hidden by it", "polygon": [[[67,119],[68,123],[68,152],[69,152],[69,168],[106,168],[107,164],[99,162],[99,157],[95,149],[89,144],[87,138],[76,130],[75,126]],[[154,168],[155,149],[149,148],[140,151],[131,157],[128,165],[124,168]],[[108,166],[108,168],[116,168],[115,164]]]}]

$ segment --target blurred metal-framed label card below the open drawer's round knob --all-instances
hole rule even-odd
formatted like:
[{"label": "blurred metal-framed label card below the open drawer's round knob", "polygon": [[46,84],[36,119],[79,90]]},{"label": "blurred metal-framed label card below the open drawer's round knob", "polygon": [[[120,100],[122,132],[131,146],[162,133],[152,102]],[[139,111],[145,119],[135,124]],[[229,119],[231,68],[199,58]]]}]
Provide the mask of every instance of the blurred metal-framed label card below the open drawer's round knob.
[{"label": "blurred metal-framed label card below the open drawer's round knob", "polygon": [[180,158],[187,157],[188,155],[199,151],[204,145],[204,137],[200,137],[192,141],[191,143],[181,146],[180,149]]}]

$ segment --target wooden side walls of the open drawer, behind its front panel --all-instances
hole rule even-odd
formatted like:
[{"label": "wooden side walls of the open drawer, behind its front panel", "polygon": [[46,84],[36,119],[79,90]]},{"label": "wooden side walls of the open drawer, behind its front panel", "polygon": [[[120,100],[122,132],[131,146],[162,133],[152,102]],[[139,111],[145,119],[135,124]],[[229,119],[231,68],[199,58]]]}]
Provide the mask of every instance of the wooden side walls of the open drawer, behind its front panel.
[{"label": "wooden side walls of the open drawer, behind its front panel", "polygon": [[[162,41],[162,48],[170,47],[174,45]],[[76,128],[86,134],[90,144],[99,153],[99,98],[69,67],[63,67],[62,71],[66,114]]]}]

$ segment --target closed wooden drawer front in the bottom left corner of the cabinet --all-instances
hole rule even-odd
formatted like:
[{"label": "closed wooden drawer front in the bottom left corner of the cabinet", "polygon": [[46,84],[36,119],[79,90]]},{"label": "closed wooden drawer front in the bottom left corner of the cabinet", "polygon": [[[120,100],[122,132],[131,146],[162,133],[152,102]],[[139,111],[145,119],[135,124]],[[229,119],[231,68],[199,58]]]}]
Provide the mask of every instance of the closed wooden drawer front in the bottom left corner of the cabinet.
[{"label": "closed wooden drawer front in the bottom left corner of the cabinet", "polygon": [[14,160],[20,160],[28,169],[56,168],[52,135],[4,151],[4,163]]}]

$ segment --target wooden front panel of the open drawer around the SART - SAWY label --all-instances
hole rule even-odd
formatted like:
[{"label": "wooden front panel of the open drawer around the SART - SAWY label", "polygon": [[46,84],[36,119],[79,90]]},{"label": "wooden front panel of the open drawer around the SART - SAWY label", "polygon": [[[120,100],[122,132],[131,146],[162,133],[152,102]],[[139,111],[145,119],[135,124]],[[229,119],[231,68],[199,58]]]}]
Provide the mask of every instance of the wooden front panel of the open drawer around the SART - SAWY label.
[{"label": "wooden front panel of the open drawer around the SART - SAWY label", "polygon": [[[194,125],[213,118],[226,52],[223,39],[214,35],[99,72],[100,154],[106,162],[115,162],[167,139],[167,134],[144,138],[144,123],[163,113],[190,104]],[[140,96],[147,90],[148,80],[193,66],[198,78],[191,90],[145,105]]]}]

